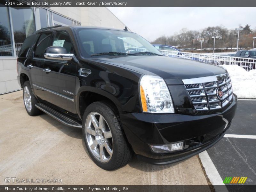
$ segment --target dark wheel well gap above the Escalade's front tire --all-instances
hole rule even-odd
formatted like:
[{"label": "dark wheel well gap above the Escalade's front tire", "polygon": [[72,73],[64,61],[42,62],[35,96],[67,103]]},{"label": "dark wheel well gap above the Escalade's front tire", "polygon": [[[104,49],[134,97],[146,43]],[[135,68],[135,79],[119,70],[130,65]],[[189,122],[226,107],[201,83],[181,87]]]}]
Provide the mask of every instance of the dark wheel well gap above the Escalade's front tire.
[{"label": "dark wheel well gap above the Escalade's front tire", "polygon": [[85,91],[85,92],[82,92],[79,97],[79,112],[80,112],[81,118],[83,118],[83,116],[84,116],[85,109],[91,103],[96,102],[96,101],[106,101],[109,104],[111,104],[114,108],[116,108],[116,111],[118,112],[118,108],[112,100],[110,100],[107,97],[100,95],[98,93]]}]

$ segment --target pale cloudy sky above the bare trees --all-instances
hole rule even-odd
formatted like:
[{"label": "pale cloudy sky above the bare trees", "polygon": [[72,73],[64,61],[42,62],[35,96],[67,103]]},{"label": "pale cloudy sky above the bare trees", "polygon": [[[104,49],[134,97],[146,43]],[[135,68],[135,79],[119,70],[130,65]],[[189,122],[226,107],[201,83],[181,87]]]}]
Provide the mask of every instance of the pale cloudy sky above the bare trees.
[{"label": "pale cloudy sky above the bare trees", "polygon": [[239,25],[256,28],[255,7],[108,7],[131,31],[148,41],[171,36],[182,28],[201,30],[208,26],[228,29]]}]

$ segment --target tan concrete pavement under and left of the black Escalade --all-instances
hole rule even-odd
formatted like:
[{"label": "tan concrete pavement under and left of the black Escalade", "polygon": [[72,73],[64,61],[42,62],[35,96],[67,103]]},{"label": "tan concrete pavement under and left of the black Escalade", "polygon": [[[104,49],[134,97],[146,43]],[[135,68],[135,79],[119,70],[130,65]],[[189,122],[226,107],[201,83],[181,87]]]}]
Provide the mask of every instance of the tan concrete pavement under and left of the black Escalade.
[{"label": "tan concrete pavement under and left of the black Escalade", "polygon": [[[82,130],[43,114],[29,116],[22,92],[0,95],[0,185],[4,178],[62,179],[63,185],[208,185],[197,156],[156,166],[132,158],[115,171],[96,166],[85,151]],[[210,191],[210,188],[209,188]]]}]

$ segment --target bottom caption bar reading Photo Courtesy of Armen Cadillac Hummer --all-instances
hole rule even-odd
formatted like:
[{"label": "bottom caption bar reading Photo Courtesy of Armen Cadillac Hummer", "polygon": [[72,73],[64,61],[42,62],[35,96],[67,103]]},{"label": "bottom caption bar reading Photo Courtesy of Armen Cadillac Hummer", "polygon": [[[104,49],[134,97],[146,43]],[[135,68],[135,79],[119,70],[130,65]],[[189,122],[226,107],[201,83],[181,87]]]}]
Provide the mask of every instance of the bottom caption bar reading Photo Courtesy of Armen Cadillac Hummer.
[{"label": "bottom caption bar reading Photo Courtesy of Armen Cadillac Hummer", "polygon": [[[214,188],[214,189],[213,189]],[[1,185],[0,192],[170,192],[170,191],[183,191],[183,192],[211,192],[216,191],[246,191],[255,192],[255,186],[253,185],[221,185],[221,186],[208,186],[208,185]]]}]

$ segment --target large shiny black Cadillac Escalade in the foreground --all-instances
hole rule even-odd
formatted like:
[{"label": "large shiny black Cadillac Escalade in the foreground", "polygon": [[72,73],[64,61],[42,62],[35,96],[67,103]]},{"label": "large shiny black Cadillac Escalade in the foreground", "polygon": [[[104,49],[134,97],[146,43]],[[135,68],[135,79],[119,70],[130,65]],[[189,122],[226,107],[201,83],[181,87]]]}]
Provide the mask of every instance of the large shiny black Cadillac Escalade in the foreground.
[{"label": "large shiny black Cadillac Escalade in the foreground", "polygon": [[236,111],[224,68],[165,57],[126,30],[41,29],[24,41],[17,71],[28,114],[82,128],[106,170],[133,152],[152,164],[194,156],[224,136]]}]

